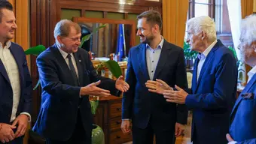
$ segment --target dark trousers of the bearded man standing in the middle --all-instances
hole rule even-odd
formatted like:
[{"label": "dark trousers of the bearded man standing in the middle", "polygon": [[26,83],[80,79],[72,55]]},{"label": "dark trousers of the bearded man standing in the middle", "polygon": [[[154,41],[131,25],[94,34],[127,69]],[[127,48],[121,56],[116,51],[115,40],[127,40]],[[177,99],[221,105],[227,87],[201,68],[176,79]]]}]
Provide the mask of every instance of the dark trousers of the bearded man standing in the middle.
[{"label": "dark trousers of the bearded man standing in the middle", "polygon": [[157,144],[175,143],[175,126],[164,130],[163,128],[152,127],[151,121],[148,127],[141,129],[133,124],[133,144],[153,144],[154,135]]}]

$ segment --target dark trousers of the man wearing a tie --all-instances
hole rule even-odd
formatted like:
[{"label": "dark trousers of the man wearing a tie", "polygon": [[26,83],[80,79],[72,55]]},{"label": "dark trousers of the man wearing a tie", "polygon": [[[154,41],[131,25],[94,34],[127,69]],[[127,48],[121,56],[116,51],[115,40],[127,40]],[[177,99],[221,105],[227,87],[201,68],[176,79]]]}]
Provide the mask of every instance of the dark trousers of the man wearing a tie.
[{"label": "dark trousers of the man wearing a tie", "polygon": [[77,124],[75,124],[75,130],[72,133],[71,138],[68,141],[59,141],[54,139],[46,139],[47,144],[91,144],[91,131],[86,132],[84,130],[81,113],[78,113]]}]

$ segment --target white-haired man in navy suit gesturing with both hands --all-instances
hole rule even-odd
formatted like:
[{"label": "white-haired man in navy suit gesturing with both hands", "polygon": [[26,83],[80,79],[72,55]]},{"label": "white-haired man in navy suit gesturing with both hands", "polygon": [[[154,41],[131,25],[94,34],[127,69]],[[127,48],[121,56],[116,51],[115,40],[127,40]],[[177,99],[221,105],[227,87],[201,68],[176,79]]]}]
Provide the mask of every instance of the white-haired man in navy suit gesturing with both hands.
[{"label": "white-haired man in navy suit gesturing with both hands", "polygon": [[166,101],[186,104],[193,110],[192,135],[194,144],[227,143],[229,116],[236,101],[236,59],[216,38],[214,21],[207,16],[187,21],[187,42],[199,52],[195,61],[192,89],[166,90],[161,80],[148,84],[149,91],[163,92]]}]

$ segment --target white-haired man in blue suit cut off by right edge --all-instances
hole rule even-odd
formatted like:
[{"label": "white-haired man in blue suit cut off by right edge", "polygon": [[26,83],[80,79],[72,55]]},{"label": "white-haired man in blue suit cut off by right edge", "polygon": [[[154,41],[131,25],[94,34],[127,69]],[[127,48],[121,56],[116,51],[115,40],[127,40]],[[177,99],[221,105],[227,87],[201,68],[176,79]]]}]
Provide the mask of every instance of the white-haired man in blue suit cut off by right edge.
[{"label": "white-haired man in blue suit cut off by right edge", "polygon": [[243,62],[252,69],[248,72],[248,83],[230,115],[229,144],[256,143],[256,16],[246,17],[241,26],[239,49]]}]

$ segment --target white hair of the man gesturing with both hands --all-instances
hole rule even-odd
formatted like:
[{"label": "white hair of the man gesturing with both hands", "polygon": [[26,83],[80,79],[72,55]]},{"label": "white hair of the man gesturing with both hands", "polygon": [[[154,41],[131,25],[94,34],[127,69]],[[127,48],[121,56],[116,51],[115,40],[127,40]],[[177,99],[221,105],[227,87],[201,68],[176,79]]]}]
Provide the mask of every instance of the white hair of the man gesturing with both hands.
[{"label": "white hair of the man gesturing with both hands", "polygon": [[191,18],[187,21],[187,30],[192,30],[194,33],[204,31],[208,40],[214,41],[217,39],[215,22],[208,16]]}]

